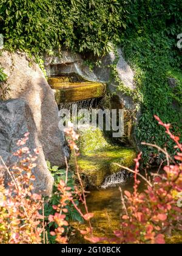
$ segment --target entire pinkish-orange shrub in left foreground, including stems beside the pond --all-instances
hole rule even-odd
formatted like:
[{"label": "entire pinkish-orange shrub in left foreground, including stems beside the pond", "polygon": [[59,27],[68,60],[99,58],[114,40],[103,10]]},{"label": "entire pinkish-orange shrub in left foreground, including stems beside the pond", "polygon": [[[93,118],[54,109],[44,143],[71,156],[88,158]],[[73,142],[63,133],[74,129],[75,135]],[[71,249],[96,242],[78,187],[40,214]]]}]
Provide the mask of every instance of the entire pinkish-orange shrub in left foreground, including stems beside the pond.
[{"label": "entire pinkish-orange shrub in left foreground, including stems beside the pond", "polygon": [[[25,146],[29,140],[28,136],[29,133],[26,133],[17,143],[19,149],[13,155],[18,157],[18,161],[14,166],[8,168],[0,157],[0,243],[67,243],[67,220],[70,220],[69,210],[72,211],[70,205],[78,205],[73,198],[77,192],[73,191],[74,187],[67,187],[68,180],[60,179],[59,183],[56,183],[53,199],[49,202],[49,208],[53,208],[54,212],[47,210],[47,199],[33,193],[33,169],[36,168],[35,162],[39,152],[35,149],[35,155],[30,154],[29,148]],[[56,171],[55,169],[53,168],[53,171]],[[8,177],[8,184],[3,176],[6,177],[5,180]],[[69,176],[68,172],[66,176]],[[54,196],[59,204],[51,204],[55,200]],[[55,237],[49,241],[51,234]]]}]

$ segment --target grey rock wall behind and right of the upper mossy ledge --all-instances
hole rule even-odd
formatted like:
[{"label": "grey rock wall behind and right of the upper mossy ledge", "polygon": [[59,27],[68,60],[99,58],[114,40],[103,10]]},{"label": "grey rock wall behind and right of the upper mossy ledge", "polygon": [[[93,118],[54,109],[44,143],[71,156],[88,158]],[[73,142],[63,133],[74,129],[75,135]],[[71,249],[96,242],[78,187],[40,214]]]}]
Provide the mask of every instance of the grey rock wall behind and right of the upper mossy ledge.
[{"label": "grey rock wall behind and right of the upper mossy ledge", "polygon": [[131,92],[135,92],[135,84],[133,82],[133,71],[124,60],[123,52],[120,48],[115,51],[109,52],[105,57],[99,60],[99,66],[95,66],[93,71],[84,65],[84,60],[79,54],[72,54],[71,52],[63,51],[61,57],[45,57],[45,68],[47,69],[48,76],[61,76],[77,74],[84,80],[93,82],[103,82],[109,85],[109,92],[112,95],[112,108],[124,109],[124,136],[120,138],[122,144],[132,144],[136,147],[135,141],[135,123],[136,119],[136,104],[133,102],[132,96],[127,96],[125,93],[118,90],[118,82],[111,77],[110,65],[115,63],[118,77],[124,87],[128,88]]}]

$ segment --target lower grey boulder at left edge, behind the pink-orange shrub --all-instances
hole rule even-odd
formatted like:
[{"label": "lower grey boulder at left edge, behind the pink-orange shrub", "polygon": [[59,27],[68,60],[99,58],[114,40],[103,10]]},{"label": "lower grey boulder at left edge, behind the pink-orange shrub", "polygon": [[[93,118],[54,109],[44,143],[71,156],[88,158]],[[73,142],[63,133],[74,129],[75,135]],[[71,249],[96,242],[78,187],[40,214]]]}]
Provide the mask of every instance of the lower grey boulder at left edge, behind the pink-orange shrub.
[{"label": "lower grey boulder at left edge, behind the pink-orange shrub", "polygon": [[27,132],[30,135],[25,146],[30,149],[31,154],[33,154],[33,149],[39,148],[37,166],[33,170],[36,177],[35,192],[49,196],[52,193],[53,177],[47,168],[29,105],[23,99],[0,101],[0,155],[7,166],[17,161],[12,154],[19,149],[16,145],[17,141]]}]

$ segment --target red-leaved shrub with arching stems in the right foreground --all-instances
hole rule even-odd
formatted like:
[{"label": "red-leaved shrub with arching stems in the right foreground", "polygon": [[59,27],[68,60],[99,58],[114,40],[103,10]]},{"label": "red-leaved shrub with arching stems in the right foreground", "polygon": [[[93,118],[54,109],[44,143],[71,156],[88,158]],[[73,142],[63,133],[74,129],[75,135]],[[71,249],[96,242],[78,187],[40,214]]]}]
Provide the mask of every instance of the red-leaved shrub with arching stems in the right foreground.
[{"label": "red-leaved shrub with arching stems in the right foreground", "polygon": [[[114,231],[115,238],[93,238],[95,241],[108,241],[109,243],[139,243],[139,244],[164,244],[167,235],[174,230],[182,230],[181,208],[177,204],[175,195],[182,191],[182,144],[180,138],[170,132],[170,124],[164,124],[155,116],[158,123],[166,129],[167,135],[175,142],[177,152],[171,157],[165,149],[167,165],[163,173],[153,174],[152,181],[141,176],[141,153],[135,159],[134,172],[135,184],[133,193],[121,190],[123,211],[121,213],[121,227]],[[144,143],[146,144],[146,143]],[[153,145],[156,147],[156,145]],[[123,166],[121,166],[123,168]],[[146,181],[146,190],[142,193],[138,190],[140,180],[138,175]]]}]

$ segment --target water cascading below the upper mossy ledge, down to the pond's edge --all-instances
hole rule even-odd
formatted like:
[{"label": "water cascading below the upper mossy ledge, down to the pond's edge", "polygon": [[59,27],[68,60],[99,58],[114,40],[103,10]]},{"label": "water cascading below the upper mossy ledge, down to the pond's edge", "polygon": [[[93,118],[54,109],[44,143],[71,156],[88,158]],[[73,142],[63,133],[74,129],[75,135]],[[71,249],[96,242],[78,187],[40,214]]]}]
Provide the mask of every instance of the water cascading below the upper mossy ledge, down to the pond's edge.
[{"label": "water cascading below the upper mossy ledge, down to the pond's edge", "polygon": [[[78,113],[80,110],[85,109],[92,113],[93,109],[97,110],[99,108],[98,105],[99,99],[93,98],[77,102],[61,103],[59,105],[59,109],[67,109],[70,113]],[[81,116],[78,115],[76,118],[79,119]],[[90,170],[93,170],[93,179],[101,179],[101,182],[100,180],[98,180],[98,182],[91,180],[91,185],[92,183],[95,183],[96,187],[102,189],[106,189],[108,187],[116,187],[116,185],[126,182],[129,175],[126,171],[121,170],[120,168],[113,173],[110,170],[110,162],[118,162],[122,157],[125,157],[125,155],[123,155],[126,154],[125,149],[110,144],[106,139],[104,132],[99,130],[98,127],[93,130],[90,119],[91,114],[87,116],[87,118],[84,118],[83,125],[79,126],[78,132],[81,137],[79,148],[82,157],[81,160],[79,160],[79,163],[81,164],[81,168],[86,169],[84,172],[85,174],[89,174],[90,176]],[[67,119],[67,121],[70,120]],[[71,121],[73,123],[73,119],[71,119]],[[127,152],[127,155],[129,154],[130,152]],[[126,157],[128,157],[127,155]],[[130,158],[132,158],[132,156]],[[100,165],[102,165],[102,168]],[[110,172],[113,174],[110,174]],[[103,174],[102,177],[100,177],[101,174]],[[95,185],[93,187],[95,187]]]}]

